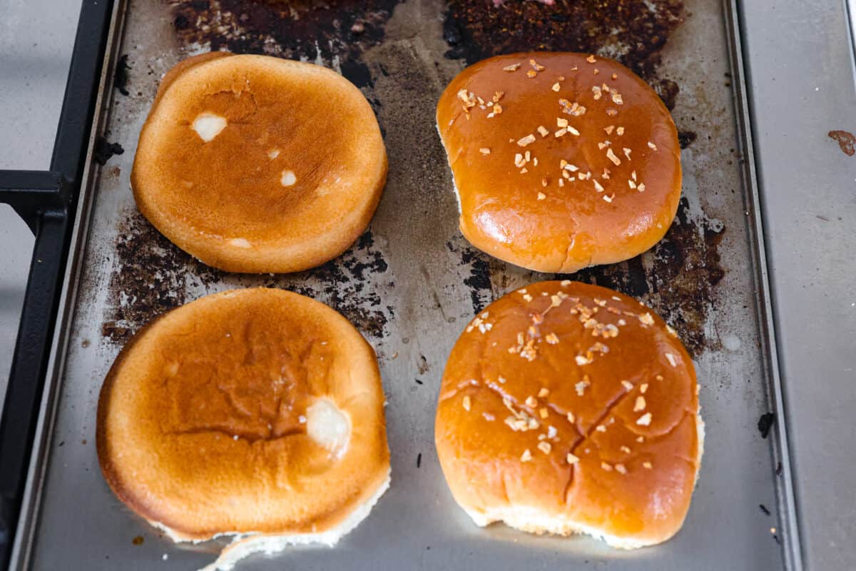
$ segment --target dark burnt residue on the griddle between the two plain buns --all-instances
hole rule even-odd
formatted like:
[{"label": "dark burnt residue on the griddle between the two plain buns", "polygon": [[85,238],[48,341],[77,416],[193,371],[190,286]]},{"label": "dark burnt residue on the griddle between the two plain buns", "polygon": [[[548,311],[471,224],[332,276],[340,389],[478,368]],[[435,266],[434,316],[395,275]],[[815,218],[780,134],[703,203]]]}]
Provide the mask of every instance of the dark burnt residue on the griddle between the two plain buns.
[{"label": "dark burnt residue on the griddle between the two plain buns", "polygon": [[[379,290],[392,288],[393,279],[385,279],[388,266],[371,230],[338,258],[309,271],[279,276],[229,274],[211,268],[176,247],[136,210],[126,211],[118,230],[109,282],[111,301],[101,326],[102,335],[112,343],[124,344],[152,318],[224,288],[289,289],[323,301],[374,338],[384,335],[393,317]],[[367,279],[370,274],[372,280]]]}]

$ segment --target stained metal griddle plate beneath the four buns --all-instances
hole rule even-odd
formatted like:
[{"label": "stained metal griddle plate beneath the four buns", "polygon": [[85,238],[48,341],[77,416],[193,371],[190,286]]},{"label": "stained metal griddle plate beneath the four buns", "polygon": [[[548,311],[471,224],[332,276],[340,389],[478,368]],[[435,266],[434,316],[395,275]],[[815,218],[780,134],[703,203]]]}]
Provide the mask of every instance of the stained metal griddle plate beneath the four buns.
[{"label": "stained metal griddle plate beneath the four buns", "polygon": [[[607,0],[556,6],[510,0],[320,3],[129,0],[119,3],[127,83],[104,93],[104,137],[122,146],[95,171],[84,204],[88,239],[68,315],[67,343],[36,450],[17,568],[199,568],[219,545],[182,547],[125,508],[102,479],[94,446],[104,374],[142,324],[228,288],[288,288],[348,317],[377,350],[392,451],[392,486],[335,548],[253,556],[241,569],[776,569],[784,567],[778,455],[758,432],[770,408],[758,234],[744,184],[740,116],[729,62],[728,6],[709,0]],[[597,8],[595,8],[597,6]],[[128,177],[162,74],[199,51],[300,58],[336,69],[372,102],[389,152],[389,181],[366,234],[312,271],[237,276],[191,259],[134,208]],[[693,354],[707,423],[698,488],[681,532],[633,552],[591,538],[480,529],[455,505],[433,445],[443,365],[474,312],[552,276],[469,247],[457,229],[452,181],[434,128],[443,86],[495,53],[597,51],[626,62],[674,107],[684,187],[666,238],[636,259],[574,277],[639,297]],[[122,56],[119,59],[118,56]],[[124,57],[124,56],[127,56]],[[84,233],[86,234],[86,232]],[[786,474],[787,476],[787,474]]]}]

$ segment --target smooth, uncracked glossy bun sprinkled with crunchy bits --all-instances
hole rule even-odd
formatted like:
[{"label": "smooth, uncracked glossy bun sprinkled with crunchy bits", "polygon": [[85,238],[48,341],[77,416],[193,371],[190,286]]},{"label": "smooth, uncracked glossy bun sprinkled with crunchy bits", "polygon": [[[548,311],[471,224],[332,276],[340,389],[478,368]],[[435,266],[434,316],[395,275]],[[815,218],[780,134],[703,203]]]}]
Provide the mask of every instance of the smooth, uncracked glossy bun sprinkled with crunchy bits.
[{"label": "smooth, uncracked glossy bun sprinkled with crunchy bits", "polygon": [[577,53],[491,57],[452,80],[437,126],[461,198],[461,231],[497,258],[560,272],[613,263],[645,252],[675,217],[675,124],[657,93],[618,62]]}]

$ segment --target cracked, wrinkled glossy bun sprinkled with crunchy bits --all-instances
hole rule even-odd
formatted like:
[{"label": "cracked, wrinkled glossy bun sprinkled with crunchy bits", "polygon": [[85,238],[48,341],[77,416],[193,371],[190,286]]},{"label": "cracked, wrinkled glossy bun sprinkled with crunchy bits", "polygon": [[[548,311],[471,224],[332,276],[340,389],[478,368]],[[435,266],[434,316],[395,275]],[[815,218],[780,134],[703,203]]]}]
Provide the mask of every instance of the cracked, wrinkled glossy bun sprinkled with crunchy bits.
[{"label": "cracked, wrinkled glossy bun sprinkled with crunchy bits", "polygon": [[661,318],[607,288],[542,282],[492,303],[455,344],[437,451],[470,512],[534,508],[651,544],[687,514],[697,415],[693,362]]}]

